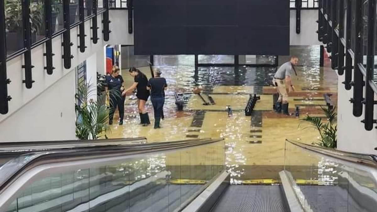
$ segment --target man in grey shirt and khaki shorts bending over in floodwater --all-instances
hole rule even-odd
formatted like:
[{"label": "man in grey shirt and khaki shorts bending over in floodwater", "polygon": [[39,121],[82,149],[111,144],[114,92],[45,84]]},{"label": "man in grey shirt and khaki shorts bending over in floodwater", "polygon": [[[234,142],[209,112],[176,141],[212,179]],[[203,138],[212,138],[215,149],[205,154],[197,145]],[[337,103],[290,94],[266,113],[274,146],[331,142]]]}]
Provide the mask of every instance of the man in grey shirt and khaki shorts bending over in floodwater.
[{"label": "man in grey shirt and khaki shorts bending over in floodwater", "polygon": [[287,93],[287,87],[288,92],[293,92],[294,86],[292,84],[292,78],[291,76],[293,74],[296,74],[296,70],[294,69],[294,66],[297,66],[299,62],[299,58],[296,56],[292,56],[291,60],[284,63],[280,66],[279,69],[277,69],[273,84],[277,88],[277,92],[279,93],[279,98],[276,101],[276,112],[281,113],[283,110],[283,114],[290,115],[288,112],[288,93]]}]

